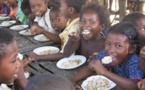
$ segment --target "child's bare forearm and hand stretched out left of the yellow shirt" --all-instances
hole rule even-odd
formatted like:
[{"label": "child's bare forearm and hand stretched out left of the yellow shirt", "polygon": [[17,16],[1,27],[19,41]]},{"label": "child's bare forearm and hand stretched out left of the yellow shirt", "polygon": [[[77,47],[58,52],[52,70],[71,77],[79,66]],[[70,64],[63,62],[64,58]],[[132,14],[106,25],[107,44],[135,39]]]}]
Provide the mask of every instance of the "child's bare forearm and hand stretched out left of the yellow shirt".
[{"label": "child's bare forearm and hand stretched out left of the yellow shirt", "polygon": [[47,38],[49,38],[50,40],[56,42],[56,43],[61,43],[61,39],[59,37],[58,34],[53,34],[53,33],[50,33],[46,30],[44,30],[43,28],[39,27],[37,24],[33,24],[31,26],[31,33],[32,34],[44,34]]}]

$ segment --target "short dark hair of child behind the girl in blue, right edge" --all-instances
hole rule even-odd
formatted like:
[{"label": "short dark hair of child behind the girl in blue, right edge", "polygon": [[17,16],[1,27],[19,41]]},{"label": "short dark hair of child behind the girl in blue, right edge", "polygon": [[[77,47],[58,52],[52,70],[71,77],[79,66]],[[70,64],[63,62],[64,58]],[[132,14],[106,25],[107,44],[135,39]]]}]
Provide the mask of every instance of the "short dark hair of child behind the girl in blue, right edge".
[{"label": "short dark hair of child behind the girl in blue, right edge", "polygon": [[134,25],[137,25],[137,21],[141,18],[145,18],[145,15],[142,13],[139,13],[139,12],[134,12],[134,13],[130,13],[130,14],[126,15],[122,21],[133,23]]}]

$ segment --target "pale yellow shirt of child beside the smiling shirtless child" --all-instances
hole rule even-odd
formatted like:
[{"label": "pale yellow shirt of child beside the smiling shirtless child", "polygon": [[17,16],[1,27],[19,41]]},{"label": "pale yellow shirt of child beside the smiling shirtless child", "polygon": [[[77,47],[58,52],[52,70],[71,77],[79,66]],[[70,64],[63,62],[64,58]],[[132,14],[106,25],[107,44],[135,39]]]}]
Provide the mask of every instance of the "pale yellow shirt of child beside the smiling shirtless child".
[{"label": "pale yellow shirt of child beside the smiling shirtless child", "polygon": [[80,18],[74,19],[72,22],[67,22],[67,27],[65,30],[59,34],[59,37],[61,38],[61,52],[63,52],[64,46],[67,43],[69,37],[68,35],[72,32],[80,33]]}]

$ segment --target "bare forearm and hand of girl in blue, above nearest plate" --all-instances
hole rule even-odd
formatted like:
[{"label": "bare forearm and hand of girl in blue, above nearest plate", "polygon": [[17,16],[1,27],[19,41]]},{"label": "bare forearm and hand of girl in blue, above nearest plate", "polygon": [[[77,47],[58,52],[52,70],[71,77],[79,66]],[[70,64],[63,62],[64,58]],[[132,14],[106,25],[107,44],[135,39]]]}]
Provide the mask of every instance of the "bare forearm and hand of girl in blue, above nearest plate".
[{"label": "bare forearm and hand of girl in blue, above nearest plate", "polygon": [[89,64],[90,68],[95,70],[97,74],[106,76],[114,81],[117,85],[124,88],[124,90],[138,90],[137,83],[133,80],[121,77],[117,74],[109,72],[101,63],[100,60],[92,61]]}]

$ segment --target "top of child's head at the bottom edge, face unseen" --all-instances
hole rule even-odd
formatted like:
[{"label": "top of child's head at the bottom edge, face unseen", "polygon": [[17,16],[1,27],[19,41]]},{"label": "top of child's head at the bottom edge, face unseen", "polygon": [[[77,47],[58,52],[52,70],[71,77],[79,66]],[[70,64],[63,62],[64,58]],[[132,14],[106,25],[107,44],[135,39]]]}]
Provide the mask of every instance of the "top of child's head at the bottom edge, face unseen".
[{"label": "top of child's head at the bottom edge, face unseen", "polygon": [[75,90],[65,77],[54,74],[41,74],[30,78],[25,90]]}]

